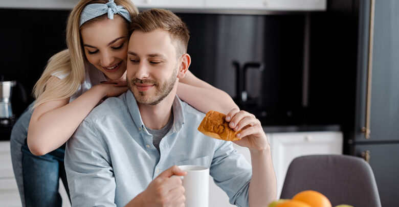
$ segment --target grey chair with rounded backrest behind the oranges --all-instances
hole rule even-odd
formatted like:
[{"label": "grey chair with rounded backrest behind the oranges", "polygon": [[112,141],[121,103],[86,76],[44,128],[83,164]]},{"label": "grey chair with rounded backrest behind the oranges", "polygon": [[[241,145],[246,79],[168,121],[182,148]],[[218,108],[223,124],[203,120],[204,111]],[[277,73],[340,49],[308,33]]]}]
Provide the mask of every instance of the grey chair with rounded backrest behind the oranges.
[{"label": "grey chair with rounded backrest behind the oranges", "polygon": [[308,155],[295,158],[288,168],[280,198],[291,199],[305,190],[318,191],[333,206],[381,207],[371,167],[348,155]]}]

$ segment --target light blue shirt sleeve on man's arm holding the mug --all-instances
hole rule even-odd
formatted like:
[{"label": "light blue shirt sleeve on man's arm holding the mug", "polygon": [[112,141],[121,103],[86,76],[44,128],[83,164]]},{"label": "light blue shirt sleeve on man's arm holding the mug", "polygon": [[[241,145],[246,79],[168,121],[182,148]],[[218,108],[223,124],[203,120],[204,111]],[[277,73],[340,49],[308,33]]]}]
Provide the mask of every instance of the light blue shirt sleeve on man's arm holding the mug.
[{"label": "light blue shirt sleeve on man's arm holding the mug", "polygon": [[66,143],[65,171],[72,206],[116,206],[115,177],[106,145],[83,121]]}]

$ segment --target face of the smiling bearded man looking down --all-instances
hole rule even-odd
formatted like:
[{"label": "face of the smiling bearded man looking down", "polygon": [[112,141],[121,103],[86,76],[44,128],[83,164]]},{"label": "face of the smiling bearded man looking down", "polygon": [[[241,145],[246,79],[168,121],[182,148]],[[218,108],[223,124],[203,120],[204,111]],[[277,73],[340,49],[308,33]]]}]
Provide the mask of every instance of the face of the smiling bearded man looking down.
[{"label": "face of the smiling bearded man looking down", "polygon": [[137,102],[156,105],[177,83],[178,60],[170,35],[165,30],[134,31],[127,55],[127,85]]}]

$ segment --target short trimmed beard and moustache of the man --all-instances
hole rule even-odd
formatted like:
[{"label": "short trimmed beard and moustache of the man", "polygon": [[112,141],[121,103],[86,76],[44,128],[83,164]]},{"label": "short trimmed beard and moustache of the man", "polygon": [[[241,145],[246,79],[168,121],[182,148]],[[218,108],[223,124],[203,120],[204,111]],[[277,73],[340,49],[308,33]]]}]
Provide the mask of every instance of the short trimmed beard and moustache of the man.
[{"label": "short trimmed beard and moustache of the man", "polygon": [[[162,85],[155,80],[140,80],[134,78],[130,81],[127,81],[127,86],[129,87],[131,93],[135,95],[136,101],[138,103],[145,105],[157,105],[169,95],[170,91],[172,91],[174,83],[176,82],[177,74],[178,68],[175,68],[170,78]],[[138,91],[137,89],[134,90],[134,88],[136,87],[136,83],[153,84],[156,89],[155,95],[149,95],[148,91]]]}]

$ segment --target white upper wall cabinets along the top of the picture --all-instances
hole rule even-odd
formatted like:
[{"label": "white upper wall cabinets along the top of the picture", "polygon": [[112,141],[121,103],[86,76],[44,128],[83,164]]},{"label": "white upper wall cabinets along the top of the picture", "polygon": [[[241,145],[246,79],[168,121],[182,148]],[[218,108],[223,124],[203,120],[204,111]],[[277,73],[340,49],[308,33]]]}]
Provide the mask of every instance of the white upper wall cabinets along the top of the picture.
[{"label": "white upper wall cabinets along the top of the picture", "polygon": [[[0,1],[0,8],[72,9],[79,0]],[[326,0],[131,0],[138,8],[177,9],[182,12],[259,13],[264,11],[324,11]],[[232,10],[228,12],[228,10]],[[257,12],[254,12],[257,11]],[[263,12],[262,12],[263,11]]]}]

